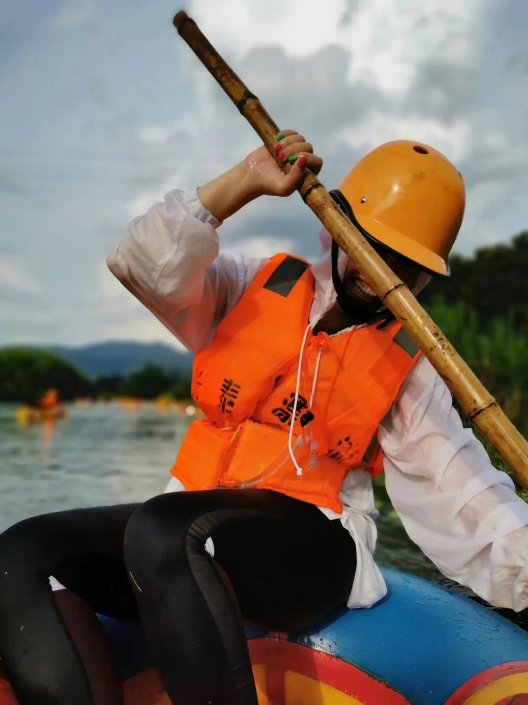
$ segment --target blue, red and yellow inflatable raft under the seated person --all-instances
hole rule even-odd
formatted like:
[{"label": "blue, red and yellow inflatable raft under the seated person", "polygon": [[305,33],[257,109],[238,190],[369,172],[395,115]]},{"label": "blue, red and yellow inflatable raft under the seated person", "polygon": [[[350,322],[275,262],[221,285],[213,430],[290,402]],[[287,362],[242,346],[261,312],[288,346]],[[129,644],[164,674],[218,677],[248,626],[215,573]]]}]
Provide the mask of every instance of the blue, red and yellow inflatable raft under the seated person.
[{"label": "blue, red and yellow inflatable raft under the seated person", "polygon": [[[248,628],[259,705],[528,705],[528,633],[438,585],[384,569],[389,593],[302,634]],[[140,628],[101,618],[125,705],[170,705]]]}]

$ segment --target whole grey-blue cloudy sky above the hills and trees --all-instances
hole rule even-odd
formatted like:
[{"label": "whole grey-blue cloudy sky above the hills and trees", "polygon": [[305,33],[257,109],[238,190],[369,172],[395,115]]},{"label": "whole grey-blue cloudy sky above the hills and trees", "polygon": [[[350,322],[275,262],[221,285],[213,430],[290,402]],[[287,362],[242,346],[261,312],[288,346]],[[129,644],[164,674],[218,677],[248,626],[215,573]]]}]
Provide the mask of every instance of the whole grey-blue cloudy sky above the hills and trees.
[{"label": "whole grey-blue cloudy sky above the hills and trees", "polygon": [[[524,0],[6,0],[0,8],[0,345],[170,341],[105,259],[133,216],[258,146],[172,16],[187,10],[335,188],[388,140],[460,168],[456,249],[528,227]],[[220,228],[222,247],[313,257],[294,194]],[[173,339],[172,339],[172,342]]]}]

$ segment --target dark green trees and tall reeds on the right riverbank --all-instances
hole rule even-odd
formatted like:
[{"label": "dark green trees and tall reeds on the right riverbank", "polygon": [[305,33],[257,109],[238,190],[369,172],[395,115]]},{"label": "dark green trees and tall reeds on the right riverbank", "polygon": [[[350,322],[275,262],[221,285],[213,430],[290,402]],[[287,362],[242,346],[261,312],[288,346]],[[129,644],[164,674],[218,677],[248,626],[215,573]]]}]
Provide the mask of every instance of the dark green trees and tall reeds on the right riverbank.
[{"label": "dark green trees and tall reeds on the right riverbank", "polygon": [[[421,298],[432,319],[528,436],[528,231],[510,243],[451,258],[451,277],[431,283]],[[455,403],[465,425],[470,425]],[[491,462],[508,471],[487,441]],[[528,492],[519,494],[528,501]]]}]

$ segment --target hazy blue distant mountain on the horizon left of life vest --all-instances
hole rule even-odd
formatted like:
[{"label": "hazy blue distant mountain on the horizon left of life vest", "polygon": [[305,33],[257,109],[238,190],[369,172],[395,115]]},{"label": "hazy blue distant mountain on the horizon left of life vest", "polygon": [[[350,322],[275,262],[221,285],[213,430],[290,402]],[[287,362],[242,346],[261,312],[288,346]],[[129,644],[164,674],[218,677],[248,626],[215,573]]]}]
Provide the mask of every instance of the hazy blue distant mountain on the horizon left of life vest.
[{"label": "hazy blue distant mountain on the horizon left of life vest", "polygon": [[156,364],[165,372],[178,372],[182,376],[190,376],[192,368],[191,353],[180,352],[165,343],[106,341],[80,348],[51,345],[47,349],[91,377],[128,376],[146,364]]}]

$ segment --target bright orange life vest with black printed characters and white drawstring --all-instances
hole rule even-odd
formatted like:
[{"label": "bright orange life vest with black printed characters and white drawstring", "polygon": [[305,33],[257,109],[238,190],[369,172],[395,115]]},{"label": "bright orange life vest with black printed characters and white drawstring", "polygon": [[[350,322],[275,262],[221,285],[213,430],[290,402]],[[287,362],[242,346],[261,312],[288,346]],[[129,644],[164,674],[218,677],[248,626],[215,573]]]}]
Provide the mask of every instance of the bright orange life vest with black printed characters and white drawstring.
[{"label": "bright orange life vest with black printed characters and white drawstring", "polygon": [[[196,354],[192,396],[206,417],[191,424],[172,468],[185,489],[249,483],[340,513],[348,470],[382,472],[377,428],[420,351],[397,321],[310,331],[293,419],[313,286],[307,262],[275,255]],[[291,423],[294,441],[309,429],[317,442],[294,446],[301,476],[288,452]]]}]

